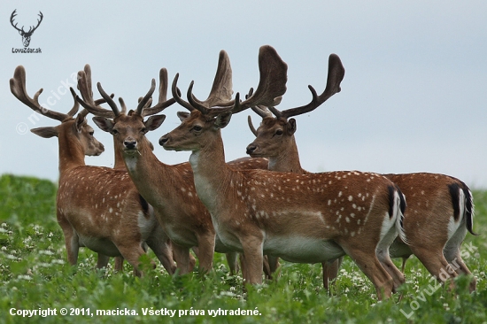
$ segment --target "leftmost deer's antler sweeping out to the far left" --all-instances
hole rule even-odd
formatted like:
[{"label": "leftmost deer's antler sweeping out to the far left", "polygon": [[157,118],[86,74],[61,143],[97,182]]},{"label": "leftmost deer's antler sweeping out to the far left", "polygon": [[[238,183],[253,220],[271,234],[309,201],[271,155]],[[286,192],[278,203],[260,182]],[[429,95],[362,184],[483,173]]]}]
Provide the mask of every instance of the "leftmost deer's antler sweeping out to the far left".
[{"label": "leftmost deer's antler sweeping out to the far left", "polygon": [[53,112],[39,104],[39,96],[43,92],[43,89],[39,89],[39,91],[35,93],[34,99],[27,95],[26,70],[24,66],[17,66],[15,68],[13,78],[10,80],[10,90],[12,91],[13,96],[35,112],[43,113],[44,116],[59,121],[66,120],[66,118],[69,117],[65,113]]}]

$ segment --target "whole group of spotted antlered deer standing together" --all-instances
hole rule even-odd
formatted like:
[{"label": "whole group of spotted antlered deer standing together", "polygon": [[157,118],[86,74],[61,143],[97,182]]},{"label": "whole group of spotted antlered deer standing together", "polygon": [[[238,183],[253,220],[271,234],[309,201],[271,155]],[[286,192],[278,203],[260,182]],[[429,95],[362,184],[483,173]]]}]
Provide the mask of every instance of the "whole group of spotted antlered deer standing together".
[{"label": "whole group of spotted antlered deer standing together", "polygon": [[[159,72],[158,102],[153,104],[155,80],[133,110],[119,104],[97,83],[95,100],[89,65],[78,73],[78,91],[71,89],[73,108],[54,112],[27,95],[26,71],[15,69],[12,94],[35,112],[59,121],[56,127],[31,131],[58,137],[59,183],[57,219],[66,243],[67,259],[75,265],[80,247],[97,252],[97,267],[115,257],[141,275],[140,257],[148,247],[169,274],[212,271],[213,253],[226,253],[232,274],[240,271],[247,283],[272,278],[279,258],[297,263],[321,263],[323,284],[329,288],[344,255],[352,258],[373,282],[379,299],[388,298],[406,282],[406,259],[414,254],[440,282],[471,275],[460,256],[467,232],[474,234],[473,197],[467,185],[444,174],[375,174],[359,171],[311,173],[299,162],[292,117],[312,112],[340,92],[344,66],[329,56],[327,85],[321,95],[312,86],[312,100],[279,111],[286,92],[287,65],[274,48],[259,49],[259,84],[245,99],[233,96],[228,55],[220,51],[213,87],[205,101],[186,99],[178,88],[179,74],[167,99],[166,69]],[[181,125],[159,144],[165,150],[188,150],[189,163],[159,161],[145,137],[164,122],[159,114],[173,104]],[[102,105],[107,104],[110,109]],[[78,112],[80,105],[83,107]],[[226,162],[220,129],[232,114],[251,109],[261,118],[250,157]],[[97,156],[104,145],[93,136],[87,115],[112,134],[114,167],[87,166],[84,157]],[[391,258],[403,258],[401,271]],[[155,266],[155,264],[153,264]],[[441,274],[448,274],[447,276]],[[475,290],[475,278],[470,283]]]}]

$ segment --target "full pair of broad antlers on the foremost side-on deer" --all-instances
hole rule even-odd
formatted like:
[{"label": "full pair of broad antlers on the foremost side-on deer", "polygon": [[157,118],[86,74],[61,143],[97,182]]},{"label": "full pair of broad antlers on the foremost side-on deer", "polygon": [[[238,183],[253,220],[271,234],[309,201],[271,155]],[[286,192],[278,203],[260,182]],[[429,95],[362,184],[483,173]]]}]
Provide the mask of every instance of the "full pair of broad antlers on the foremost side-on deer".
[{"label": "full pair of broad antlers on the foremost side-on deer", "polygon": [[[256,105],[272,105],[279,104],[282,99],[282,95],[286,92],[286,82],[288,66],[282,61],[277,52],[271,46],[262,46],[259,49],[259,73],[260,80],[259,86],[255,92],[250,92],[248,97],[243,102],[240,102],[240,95],[237,93],[235,100],[228,100],[231,96],[230,89],[225,87],[225,83],[222,80],[229,82],[229,75],[231,69],[229,66],[229,60],[225,51],[220,51],[219,68],[215,75],[215,81],[213,81],[212,92],[205,102],[197,100],[193,95],[192,81],[188,89],[188,101],[189,104],[184,102],[180,96],[176,94],[177,75],[173,81],[173,96],[179,104],[186,107],[189,110],[197,109],[204,114],[218,114],[220,112],[242,112],[243,110]],[[218,90],[218,88],[220,91]],[[211,110],[208,108],[212,108]]]}]

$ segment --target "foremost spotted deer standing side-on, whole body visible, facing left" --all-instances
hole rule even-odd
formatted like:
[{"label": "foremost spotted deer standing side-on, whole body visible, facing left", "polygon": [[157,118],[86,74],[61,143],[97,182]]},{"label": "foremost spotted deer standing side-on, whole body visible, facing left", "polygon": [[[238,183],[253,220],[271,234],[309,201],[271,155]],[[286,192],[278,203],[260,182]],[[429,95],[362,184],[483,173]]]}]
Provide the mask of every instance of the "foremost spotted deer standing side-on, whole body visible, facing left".
[{"label": "foremost spotted deer standing side-on, whole body visible, facing left", "polygon": [[[221,241],[243,251],[246,282],[260,283],[263,254],[290,262],[332,261],[348,254],[374,283],[379,299],[390,297],[404,276],[393,279],[376,256],[388,254],[401,228],[404,197],[379,174],[343,171],[323,174],[235,170],[225,164],[220,129],[232,113],[274,104],[285,92],[287,76],[274,66],[270,46],[259,50],[259,87],[247,100],[202,104],[189,86],[190,113],[163,135],[166,150],[189,150],[197,195],[212,215]],[[268,78],[263,78],[262,75]],[[174,80],[176,81],[176,80]],[[173,87],[174,89],[175,87]],[[173,90],[173,96],[179,96]]]}]

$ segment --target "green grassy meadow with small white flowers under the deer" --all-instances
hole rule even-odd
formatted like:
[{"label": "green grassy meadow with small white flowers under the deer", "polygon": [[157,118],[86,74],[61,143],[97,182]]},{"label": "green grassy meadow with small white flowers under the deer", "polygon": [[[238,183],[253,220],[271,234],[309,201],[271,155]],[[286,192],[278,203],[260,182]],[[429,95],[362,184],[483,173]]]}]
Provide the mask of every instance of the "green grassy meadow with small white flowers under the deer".
[{"label": "green grassy meadow with small white flowers under the deer", "polygon": [[[56,221],[56,190],[50,181],[0,178],[0,322],[487,322],[486,191],[474,193],[475,231],[480,235],[468,235],[462,249],[477,277],[477,290],[470,294],[468,278],[463,276],[454,291],[438,286],[411,258],[401,288],[403,300],[398,302],[395,295],[377,302],[372,283],[349,258],[331,297],[322,289],[318,265],[283,262],[278,280],[248,287],[246,293],[241,276],[228,274],[220,254],[215,254],[214,271],[205,277],[197,273],[171,277],[160,265],[151,269],[149,258],[155,259],[151,253],[143,260],[148,266],[143,278],[134,277],[127,264],[121,274],[112,266],[96,270],[96,255],[88,249],[81,249],[77,266],[69,266]],[[62,308],[68,315],[59,314]],[[57,315],[29,318],[10,313],[47,309],[56,309]],[[72,309],[74,314],[69,315]],[[105,313],[97,315],[97,310]],[[137,315],[126,315],[126,310]]]}]

